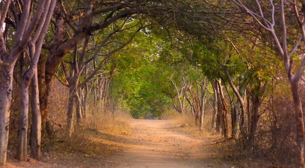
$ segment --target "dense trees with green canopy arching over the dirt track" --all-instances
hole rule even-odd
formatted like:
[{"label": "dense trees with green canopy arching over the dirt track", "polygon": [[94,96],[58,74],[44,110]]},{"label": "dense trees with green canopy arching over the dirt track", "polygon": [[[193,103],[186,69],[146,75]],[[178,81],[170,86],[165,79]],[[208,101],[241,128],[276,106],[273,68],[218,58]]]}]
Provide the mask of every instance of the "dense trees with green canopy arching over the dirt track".
[{"label": "dense trees with green canopy arching over the dirt track", "polygon": [[304,168],[304,8],[304,0],[0,0],[0,166],[12,133],[19,160],[28,150],[40,158],[57,138],[49,116],[61,107],[50,99],[67,94],[67,137],[96,113],[160,119],[174,110],[240,150]]}]

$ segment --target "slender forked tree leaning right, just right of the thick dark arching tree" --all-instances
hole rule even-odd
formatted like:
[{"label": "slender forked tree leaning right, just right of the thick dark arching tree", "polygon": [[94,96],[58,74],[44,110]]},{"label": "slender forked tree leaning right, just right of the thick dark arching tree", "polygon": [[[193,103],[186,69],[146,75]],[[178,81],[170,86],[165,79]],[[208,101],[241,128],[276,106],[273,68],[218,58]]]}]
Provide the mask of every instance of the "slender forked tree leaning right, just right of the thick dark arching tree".
[{"label": "slender forked tree leaning right, just right of the thick dark arching tree", "polygon": [[[67,63],[69,63],[68,66],[66,66],[64,63],[62,63],[63,67],[63,75],[65,79],[65,84],[69,87],[70,90],[70,97],[69,97],[69,106],[68,106],[68,119],[67,119],[67,126],[68,126],[68,135],[71,137],[73,133],[73,127],[74,127],[74,113],[76,109],[76,116],[77,116],[77,122],[81,122],[81,108],[77,104],[80,104],[80,95],[79,89],[82,87],[82,85],[85,85],[88,81],[90,81],[92,78],[95,77],[95,75],[99,72],[99,70],[104,67],[110,57],[119,50],[126,47],[128,44],[130,44],[134,38],[134,36],[143,28],[141,26],[141,23],[138,23],[137,21],[131,21],[129,22],[128,19],[123,20],[121,23],[118,23],[121,25],[115,25],[113,24],[109,33],[108,31],[104,31],[104,36],[102,34],[96,34],[91,38],[90,41],[92,41],[92,45],[88,46],[89,44],[89,38],[90,36],[87,36],[85,41],[83,42],[83,45],[76,45],[74,47],[73,53],[71,57],[68,57],[68,60],[65,60]],[[114,28],[117,27],[116,30]],[[125,33],[125,38],[121,37],[121,34],[124,32],[130,32],[130,38],[127,37],[127,33]],[[97,39],[100,39],[101,41],[97,41]],[[103,49],[103,50],[102,50]],[[87,50],[91,50],[91,52],[87,53]],[[71,62],[69,58],[72,58]],[[88,66],[90,62],[95,62],[96,65],[93,67],[93,70],[90,71],[90,73],[87,73],[87,76],[85,76],[84,80],[80,81],[80,77],[83,74],[85,68]],[[69,70],[67,69],[69,67]],[[69,73],[68,73],[69,71]],[[111,70],[110,70],[111,71]],[[102,79],[102,78],[98,78]],[[100,80],[99,80],[100,81]],[[105,83],[109,85],[108,83]],[[106,85],[106,87],[108,87]],[[108,92],[108,89],[105,87],[103,89],[104,85],[98,86],[98,90]],[[103,100],[104,103],[106,100]],[[77,108],[75,108],[75,105]],[[101,111],[104,110],[104,106],[101,107]]]}]

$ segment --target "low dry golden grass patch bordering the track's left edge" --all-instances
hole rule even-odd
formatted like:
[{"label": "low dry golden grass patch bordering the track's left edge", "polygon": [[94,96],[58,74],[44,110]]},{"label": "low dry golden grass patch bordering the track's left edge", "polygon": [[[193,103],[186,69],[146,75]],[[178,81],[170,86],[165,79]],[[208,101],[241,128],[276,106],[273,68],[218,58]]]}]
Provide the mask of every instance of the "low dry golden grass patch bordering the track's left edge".
[{"label": "low dry golden grass patch bordering the track's left edge", "polygon": [[112,113],[91,114],[75,127],[71,138],[64,136],[58,141],[52,153],[104,158],[120,150],[120,137],[130,134],[127,118],[130,116],[121,111],[115,112],[114,117]]}]

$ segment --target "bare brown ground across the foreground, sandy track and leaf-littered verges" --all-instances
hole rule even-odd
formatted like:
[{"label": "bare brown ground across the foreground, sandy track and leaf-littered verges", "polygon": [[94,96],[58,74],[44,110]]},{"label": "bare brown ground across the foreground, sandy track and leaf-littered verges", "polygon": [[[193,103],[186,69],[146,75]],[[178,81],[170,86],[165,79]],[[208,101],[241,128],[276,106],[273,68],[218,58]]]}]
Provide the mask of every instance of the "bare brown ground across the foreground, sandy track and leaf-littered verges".
[{"label": "bare brown ground across the foreground, sandy track and leaf-littered verges", "polygon": [[222,153],[217,148],[217,144],[222,143],[219,135],[190,134],[180,129],[184,125],[175,126],[173,120],[129,119],[127,122],[130,133],[98,135],[99,146],[104,146],[100,151],[103,156],[96,156],[96,149],[80,149],[72,153],[44,152],[40,162],[34,159],[18,162],[8,158],[7,168],[277,167],[269,163],[236,162],[232,154]]}]

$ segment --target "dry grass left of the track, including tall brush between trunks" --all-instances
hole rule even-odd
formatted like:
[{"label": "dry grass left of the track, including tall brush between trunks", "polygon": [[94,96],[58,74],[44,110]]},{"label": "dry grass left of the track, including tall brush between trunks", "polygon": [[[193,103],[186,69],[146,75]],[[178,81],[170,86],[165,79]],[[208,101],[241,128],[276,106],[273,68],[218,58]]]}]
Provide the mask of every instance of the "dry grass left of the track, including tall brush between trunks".
[{"label": "dry grass left of the track, including tall brush between trunks", "polygon": [[[68,157],[80,155],[83,157],[105,157],[118,150],[117,139],[130,134],[126,119],[131,116],[123,111],[114,113],[87,104],[87,117],[79,124],[75,124],[74,134],[67,137],[66,118],[69,91],[58,81],[52,85],[49,102],[49,120],[54,131],[53,137],[43,138],[42,151],[54,157]],[[76,119],[75,119],[76,123]]]}]

